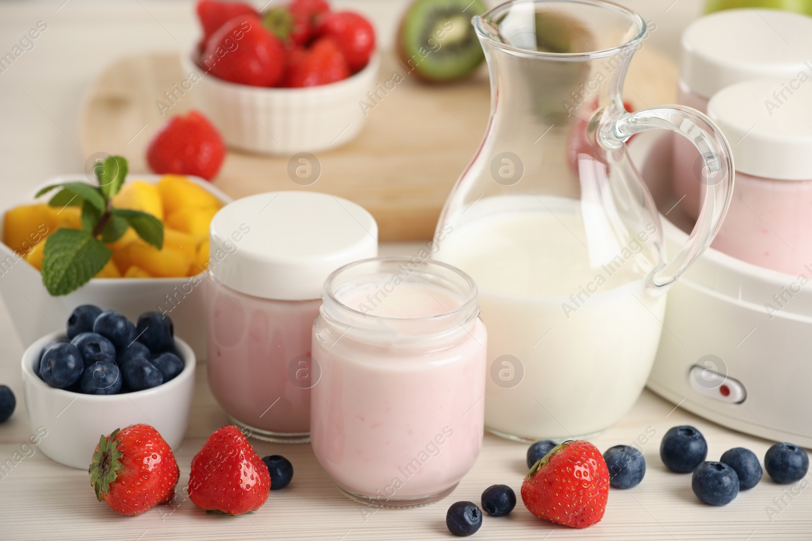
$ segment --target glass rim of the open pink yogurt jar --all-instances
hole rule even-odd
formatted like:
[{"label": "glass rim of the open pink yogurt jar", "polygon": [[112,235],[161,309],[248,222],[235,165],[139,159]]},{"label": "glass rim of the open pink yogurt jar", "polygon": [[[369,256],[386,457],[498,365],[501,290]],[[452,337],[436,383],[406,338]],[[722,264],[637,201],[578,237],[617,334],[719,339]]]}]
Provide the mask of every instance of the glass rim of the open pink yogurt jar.
[{"label": "glass rim of the open pink yogurt jar", "polygon": [[[464,271],[456,268],[453,265],[443,263],[442,261],[438,260],[422,260],[418,264],[418,268],[421,268],[424,265],[428,265],[428,267],[436,267],[436,268],[444,268],[447,271],[450,271],[453,274],[456,274],[458,277],[462,278],[464,281],[465,286],[467,286],[467,295],[464,295],[464,299],[460,301],[460,305],[453,310],[450,311],[443,311],[440,314],[435,314],[434,316],[423,316],[423,317],[391,317],[391,316],[375,316],[372,313],[366,313],[360,310],[356,310],[348,306],[347,304],[343,303],[343,301],[339,300],[335,296],[333,283],[339,275],[348,271],[351,268],[361,266],[363,264],[371,264],[371,263],[378,263],[378,264],[414,264],[414,258],[406,257],[406,256],[378,256],[378,257],[370,257],[365,260],[357,260],[353,261],[352,263],[348,263],[343,265],[342,267],[336,268],[335,271],[330,273],[330,276],[324,281],[324,293],[323,297],[330,300],[330,303],[334,304],[335,307],[338,307],[340,311],[343,311],[348,316],[352,316],[353,318],[361,317],[365,320],[373,320],[373,321],[382,321],[382,322],[398,322],[402,324],[408,323],[423,323],[423,322],[431,322],[435,320],[447,320],[451,318],[456,320],[459,324],[468,323],[469,320],[474,319],[479,315],[479,310],[473,310],[472,307],[477,305],[477,284],[473,281],[473,278],[465,273]],[[416,271],[417,272],[417,269]],[[461,292],[464,294],[464,292]],[[473,312],[473,317],[468,317],[463,321],[457,320],[456,316],[464,315],[466,312]]]}]

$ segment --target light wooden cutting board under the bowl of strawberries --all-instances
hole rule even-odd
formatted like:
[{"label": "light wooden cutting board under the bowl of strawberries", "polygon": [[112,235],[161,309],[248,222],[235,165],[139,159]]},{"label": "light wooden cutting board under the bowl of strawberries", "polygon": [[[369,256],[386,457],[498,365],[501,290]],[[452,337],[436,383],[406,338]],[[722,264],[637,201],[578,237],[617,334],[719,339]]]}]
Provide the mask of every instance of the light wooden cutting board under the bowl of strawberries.
[{"label": "light wooden cutting board under the bowl of strawberries", "polygon": [[[390,79],[398,67],[394,55],[384,53],[378,78]],[[673,103],[676,78],[674,63],[646,46],[629,68],[624,99],[635,109]],[[84,156],[120,154],[132,172],[149,172],[145,149],[153,133],[170,114],[196,105],[192,87],[161,117],[156,102],[185,79],[179,54],[173,53],[139,54],[107,67],[84,97]],[[489,103],[484,69],[448,85],[407,77],[369,110],[356,140],[317,154],[322,174],[313,185],[300,187],[288,177],[288,157],[244,152],[228,153],[214,184],[235,199],[263,191],[324,191],[369,210],[382,242],[431,238],[451,187],[479,147]]]}]

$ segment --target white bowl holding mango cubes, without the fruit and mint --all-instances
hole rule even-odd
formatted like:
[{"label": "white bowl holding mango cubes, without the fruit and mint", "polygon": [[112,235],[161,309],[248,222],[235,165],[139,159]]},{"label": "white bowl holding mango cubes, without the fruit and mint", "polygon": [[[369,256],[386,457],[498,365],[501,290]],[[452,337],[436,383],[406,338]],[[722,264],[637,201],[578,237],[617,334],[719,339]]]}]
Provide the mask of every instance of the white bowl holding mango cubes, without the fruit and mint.
[{"label": "white bowl holding mango cubes, without the fruit and mint", "polygon": [[[161,177],[158,174],[131,174],[127,181],[158,182]],[[217,197],[222,204],[231,202],[231,197],[212,186],[211,182],[197,177],[188,178]],[[86,181],[86,178],[81,174],[49,178],[41,187],[76,180]],[[18,204],[32,202],[39,188],[33,190],[28,198],[4,208],[3,213]],[[48,196],[42,200],[47,201]],[[167,311],[175,324],[175,333],[187,337],[197,357],[206,358],[204,286],[192,287],[192,278],[93,278],[70,294],[52,297],[42,285],[40,272],[18,257],[10,247],[0,243],[0,297],[11,314],[23,346],[28,346],[45,333],[64,329],[71,311],[80,304],[95,304],[102,310],[120,311],[132,321],[136,321],[145,311]],[[167,298],[174,300],[170,302]]]}]

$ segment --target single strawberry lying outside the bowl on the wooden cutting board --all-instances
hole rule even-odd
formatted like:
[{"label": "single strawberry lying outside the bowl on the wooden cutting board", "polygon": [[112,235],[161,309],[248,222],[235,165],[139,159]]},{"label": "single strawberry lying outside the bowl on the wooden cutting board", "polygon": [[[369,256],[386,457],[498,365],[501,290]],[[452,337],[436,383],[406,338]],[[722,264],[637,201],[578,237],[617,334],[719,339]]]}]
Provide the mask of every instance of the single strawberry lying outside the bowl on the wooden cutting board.
[{"label": "single strawberry lying outside the bowl on the wooden cutting board", "polygon": [[196,174],[211,180],[226,157],[218,131],[197,111],[179,114],[153,136],[147,163],[158,174]]}]

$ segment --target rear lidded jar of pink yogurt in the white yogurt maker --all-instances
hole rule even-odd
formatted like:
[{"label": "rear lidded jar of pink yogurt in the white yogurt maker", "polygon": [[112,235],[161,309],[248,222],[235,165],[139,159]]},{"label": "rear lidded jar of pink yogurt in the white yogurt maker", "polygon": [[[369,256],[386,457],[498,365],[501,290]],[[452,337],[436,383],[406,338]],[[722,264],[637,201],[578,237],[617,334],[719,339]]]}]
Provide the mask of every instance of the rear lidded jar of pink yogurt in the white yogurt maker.
[{"label": "rear lidded jar of pink yogurt in the white yogurt maker", "polygon": [[[708,100],[730,84],[782,79],[778,95],[764,99],[783,102],[791,96],[787,85],[812,77],[812,17],[807,15],[753,8],[718,11],[685,28],[681,46],[677,103],[702,113]],[[680,207],[695,220],[702,203],[702,157],[683,137],[675,135],[673,145],[674,191],[682,198]]]}]

